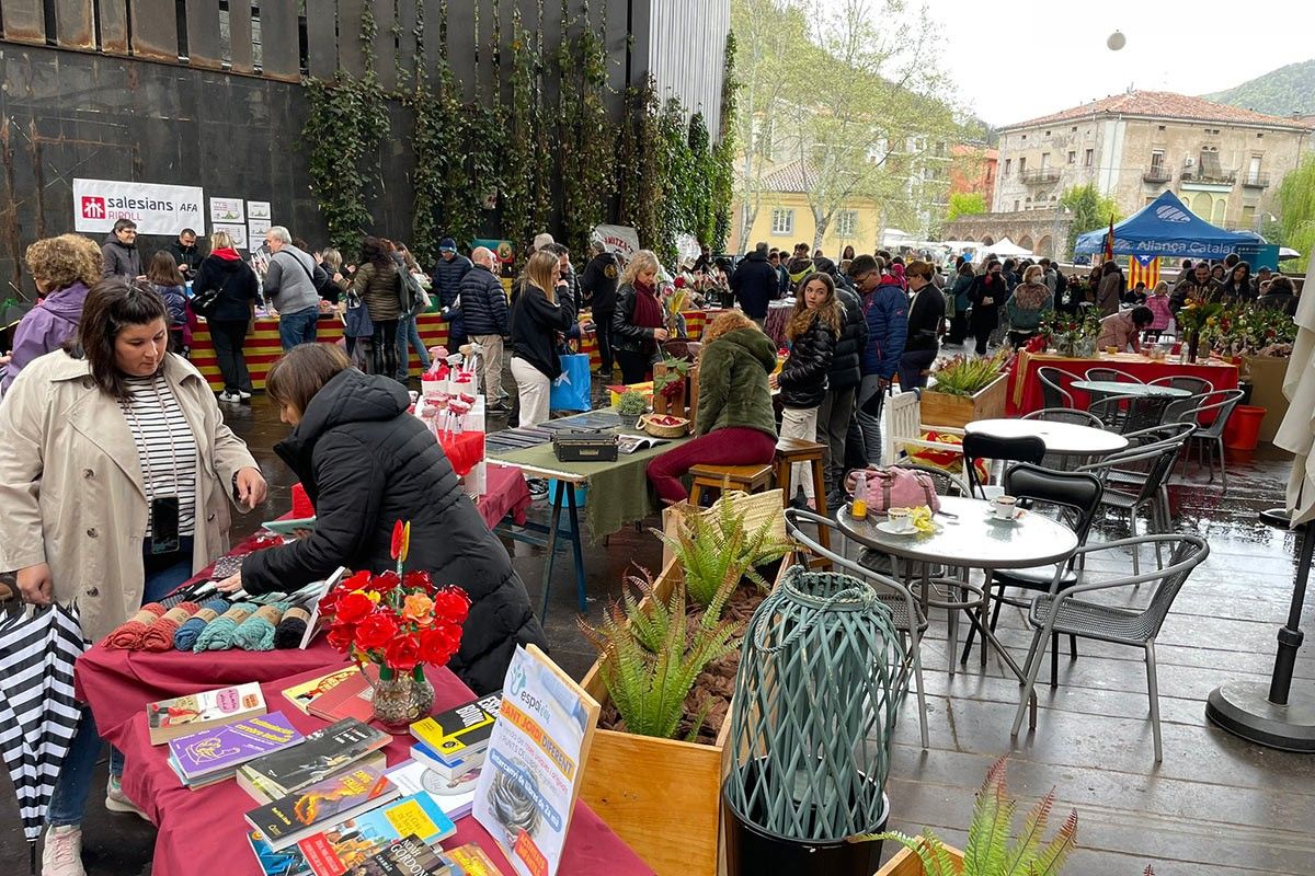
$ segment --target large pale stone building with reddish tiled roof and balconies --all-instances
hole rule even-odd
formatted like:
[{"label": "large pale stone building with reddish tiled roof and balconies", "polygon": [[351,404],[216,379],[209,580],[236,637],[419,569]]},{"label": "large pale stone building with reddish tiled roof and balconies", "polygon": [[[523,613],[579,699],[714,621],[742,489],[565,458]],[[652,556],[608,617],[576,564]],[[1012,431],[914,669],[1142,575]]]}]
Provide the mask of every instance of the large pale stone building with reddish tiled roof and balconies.
[{"label": "large pale stone building with reddish tiled roof and balconies", "polygon": [[993,210],[1049,209],[1095,184],[1130,215],[1170,189],[1214,225],[1256,230],[1312,143],[1307,120],[1134,91],[999,129]]}]

